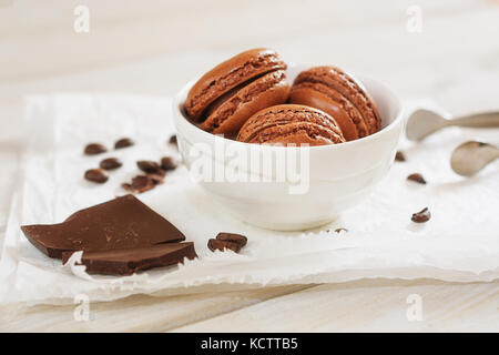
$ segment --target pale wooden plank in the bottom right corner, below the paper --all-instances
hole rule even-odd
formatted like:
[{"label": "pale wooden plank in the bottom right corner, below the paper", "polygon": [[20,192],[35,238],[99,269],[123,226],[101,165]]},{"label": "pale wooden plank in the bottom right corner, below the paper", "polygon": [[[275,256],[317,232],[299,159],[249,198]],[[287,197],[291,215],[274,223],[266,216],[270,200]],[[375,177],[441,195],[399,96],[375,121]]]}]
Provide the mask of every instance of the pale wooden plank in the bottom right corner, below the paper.
[{"label": "pale wooden plank in the bottom right corner, below the paper", "polygon": [[[409,295],[421,321],[409,321]],[[415,297],[417,297],[415,296]],[[499,332],[499,282],[364,280],[325,284],[175,332]]]}]

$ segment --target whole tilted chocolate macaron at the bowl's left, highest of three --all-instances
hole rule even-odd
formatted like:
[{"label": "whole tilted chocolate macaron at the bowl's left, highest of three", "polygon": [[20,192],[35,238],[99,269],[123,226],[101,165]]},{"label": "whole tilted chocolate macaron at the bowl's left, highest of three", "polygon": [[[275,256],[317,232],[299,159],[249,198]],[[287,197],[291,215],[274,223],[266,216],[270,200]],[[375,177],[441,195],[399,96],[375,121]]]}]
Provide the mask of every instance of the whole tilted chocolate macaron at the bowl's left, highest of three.
[{"label": "whole tilted chocolate macaron at the bowl's left, highest of three", "polygon": [[191,89],[184,109],[211,133],[237,134],[255,112],[284,103],[289,94],[286,63],[269,49],[240,53],[204,74]]}]

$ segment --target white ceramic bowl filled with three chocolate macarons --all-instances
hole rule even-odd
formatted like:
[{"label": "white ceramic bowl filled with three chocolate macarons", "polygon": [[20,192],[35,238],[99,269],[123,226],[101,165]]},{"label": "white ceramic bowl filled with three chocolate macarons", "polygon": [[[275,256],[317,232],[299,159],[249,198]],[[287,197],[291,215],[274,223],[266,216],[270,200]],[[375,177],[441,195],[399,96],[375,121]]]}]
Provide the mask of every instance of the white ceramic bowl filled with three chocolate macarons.
[{"label": "white ceramic bowl filled with three chocolate macarons", "polygon": [[[289,65],[287,77],[293,83],[296,75],[310,65]],[[388,172],[394,162],[397,143],[404,129],[403,106],[399,99],[383,83],[359,75],[365,89],[374,98],[380,116],[381,130],[369,136],[342,144],[304,148],[268,146],[248,144],[210,134],[191,123],[184,115],[183,103],[194,81],[187,83],[175,97],[173,103],[174,124],[177,130],[179,149],[182,158],[200,185],[218,202],[218,205],[237,219],[251,224],[282,231],[316,227],[334,221],[343,211],[368,196],[371,187]],[[238,152],[236,160],[227,152]],[[244,169],[244,178],[200,178],[203,164],[211,164],[213,171],[234,172],[234,162],[241,161],[241,152],[267,154],[267,169],[257,165]],[[284,152],[284,153],[283,153]],[[278,156],[302,156],[299,162],[291,160],[279,163]],[[255,155],[253,155],[255,156]],[[279,165],[281,164],[281,165]],[[284,171],[295,166],[302,179],[297,189]],[[207,165],[204,165],[207,166]],[[287,170],[285,170],[287,169]],[[282,179],[286,175],[288,179]],[[264,181],[265,179],[265,181]],[[241,181],[243,180],[243,181]],[[291,186],[295,192],[291,193]],[[308,186],[308,189],[306,189]],[[216,207],[216,206],[215,206]]]}]

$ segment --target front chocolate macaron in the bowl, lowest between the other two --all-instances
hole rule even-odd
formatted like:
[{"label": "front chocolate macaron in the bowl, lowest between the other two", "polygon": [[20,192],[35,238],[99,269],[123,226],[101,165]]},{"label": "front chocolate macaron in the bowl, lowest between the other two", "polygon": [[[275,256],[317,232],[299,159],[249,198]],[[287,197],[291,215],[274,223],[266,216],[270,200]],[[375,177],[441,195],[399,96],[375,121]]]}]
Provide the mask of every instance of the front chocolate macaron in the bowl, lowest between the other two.
[{"label": "front chocolate macaron in the bowl, lowest between the other two", "polygon": [[241,128],[237,141],[325,145],[345,142],[336,121],[327,113],[299,104],[279,104],[258,111]]}]

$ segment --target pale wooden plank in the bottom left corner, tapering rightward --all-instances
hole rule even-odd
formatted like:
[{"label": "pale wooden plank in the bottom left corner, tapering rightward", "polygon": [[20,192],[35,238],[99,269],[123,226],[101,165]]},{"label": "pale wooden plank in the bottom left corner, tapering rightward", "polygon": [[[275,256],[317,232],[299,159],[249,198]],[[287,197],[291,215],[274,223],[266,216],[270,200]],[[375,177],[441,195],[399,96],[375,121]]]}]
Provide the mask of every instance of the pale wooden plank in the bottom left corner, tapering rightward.
[{"label": "pale wooden plank in the bottom left corner, tapering rightward", "polygon": [[2,332],[165,332],[265,300],[306,290],[310,285],[172,297],[134,295],[90,304],[89,321],[75,321],[80,304],[68,306],[8,305],[0,307]]}]

